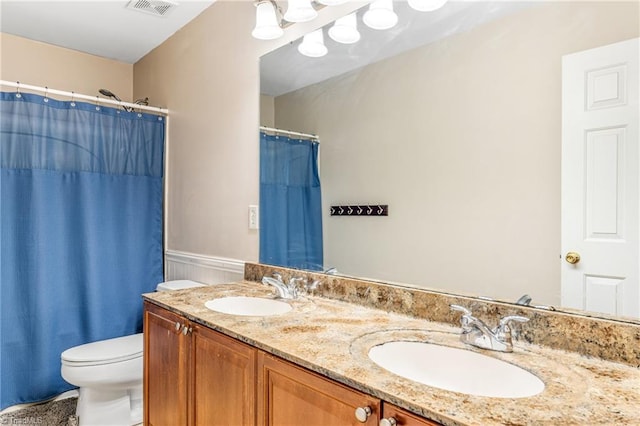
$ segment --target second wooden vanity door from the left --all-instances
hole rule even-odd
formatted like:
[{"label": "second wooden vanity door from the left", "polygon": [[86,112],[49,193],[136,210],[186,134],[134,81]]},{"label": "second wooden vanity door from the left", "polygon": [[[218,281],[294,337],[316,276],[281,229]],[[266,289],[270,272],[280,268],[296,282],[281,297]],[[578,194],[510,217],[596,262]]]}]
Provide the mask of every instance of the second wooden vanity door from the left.
[{"label": "second wooden vanity door from the left", "polygon": [[194,423],[255,425],[257,350],[197,324],[191,345]]}]

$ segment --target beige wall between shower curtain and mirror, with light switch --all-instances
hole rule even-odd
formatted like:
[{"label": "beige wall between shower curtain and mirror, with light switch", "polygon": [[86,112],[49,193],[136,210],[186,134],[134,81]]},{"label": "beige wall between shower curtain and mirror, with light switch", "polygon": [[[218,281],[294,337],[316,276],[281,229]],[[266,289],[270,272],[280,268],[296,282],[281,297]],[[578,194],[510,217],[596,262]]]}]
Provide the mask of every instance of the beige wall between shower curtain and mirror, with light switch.
[{"label": "beige wall between shower curtain and mirror, with light switch", "polygon": [[248,206],[259,202],[259,58],[356,6],[260,41],[252,2],[217,1],[135,64],[134,95],[170,111],[167,249],[258,259]]}]

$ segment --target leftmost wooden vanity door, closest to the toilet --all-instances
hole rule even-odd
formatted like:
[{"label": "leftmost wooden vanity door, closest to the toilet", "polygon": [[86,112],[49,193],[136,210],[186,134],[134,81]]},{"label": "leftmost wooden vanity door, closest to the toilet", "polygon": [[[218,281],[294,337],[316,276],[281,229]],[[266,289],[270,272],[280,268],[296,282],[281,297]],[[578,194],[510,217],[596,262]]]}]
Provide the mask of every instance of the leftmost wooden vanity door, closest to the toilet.
[{"label": "leftmost wooden vanity door, closest to the toilet", "polygon": [[182,330],[187,321],[150,303],[144,307],[144,424],[186,425],[191,336]]}]

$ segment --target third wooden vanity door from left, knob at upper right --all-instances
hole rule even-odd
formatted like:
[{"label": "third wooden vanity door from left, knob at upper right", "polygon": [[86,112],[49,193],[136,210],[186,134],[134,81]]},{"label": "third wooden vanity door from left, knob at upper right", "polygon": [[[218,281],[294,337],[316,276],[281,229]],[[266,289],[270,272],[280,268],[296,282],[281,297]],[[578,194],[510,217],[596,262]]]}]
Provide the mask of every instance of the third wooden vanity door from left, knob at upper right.
[{"label": "third wooden vanity door from left, knob at upper right", "polygon": [[[369,417],[356,419],[357,408]],[[258,353],[258,422],[271,426],[377,425],[380,401],[320,375]]]}]

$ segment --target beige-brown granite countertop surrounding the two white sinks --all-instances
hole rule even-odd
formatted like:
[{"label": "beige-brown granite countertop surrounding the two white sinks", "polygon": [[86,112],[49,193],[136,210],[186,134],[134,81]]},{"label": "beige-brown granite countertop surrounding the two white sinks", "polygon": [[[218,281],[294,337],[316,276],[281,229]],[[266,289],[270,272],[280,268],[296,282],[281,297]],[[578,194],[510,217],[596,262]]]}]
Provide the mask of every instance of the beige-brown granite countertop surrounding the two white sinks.
[{"label": "beige-brown granite countertop surrounding the two white sinks", "polygon": [[[573,352],[522,342],[513,353],[475,349],[460,329],[411,316],[303,296],[293,310],[246,317],[207,309],[225,296],[273,297],[273,288],[243,281],[143,295],[145,300],[352,388],[444,425],[638,425],[640,370]],[[415,340],[465,348],[520,366],[545,383],[527,398],[488,398],[450,392],[399,377],[367,356],[369,348]],[[498,378],[499,379],[499,378]]]}]

